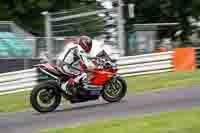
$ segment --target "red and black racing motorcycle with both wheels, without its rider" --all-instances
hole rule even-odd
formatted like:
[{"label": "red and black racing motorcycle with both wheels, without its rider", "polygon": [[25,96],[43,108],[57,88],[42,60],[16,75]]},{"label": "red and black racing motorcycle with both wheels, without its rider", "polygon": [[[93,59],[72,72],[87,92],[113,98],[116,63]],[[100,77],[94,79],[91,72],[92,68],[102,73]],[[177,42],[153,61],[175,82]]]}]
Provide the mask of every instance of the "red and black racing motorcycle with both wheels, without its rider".
[{"label": "red and black racing motorcycle with both wheels, without its rider", "polygon": [[117,74],[116,61],[112,60],[105,51],[100,52],[95,59],[98,66],[95,70],[87,70],[88,80],[80,81],[74,86],[76,93],[68,95],[61,89],[61,84],[75,75],[61,72],[52,63],[36,65],[40,77],[47,79],[39,82],[30,95],[32,107],[41,113],[54,111],[64,97],[71,104],[98,100],[102,97],[107,102],[119,102],[127,92],[126,81]]}]

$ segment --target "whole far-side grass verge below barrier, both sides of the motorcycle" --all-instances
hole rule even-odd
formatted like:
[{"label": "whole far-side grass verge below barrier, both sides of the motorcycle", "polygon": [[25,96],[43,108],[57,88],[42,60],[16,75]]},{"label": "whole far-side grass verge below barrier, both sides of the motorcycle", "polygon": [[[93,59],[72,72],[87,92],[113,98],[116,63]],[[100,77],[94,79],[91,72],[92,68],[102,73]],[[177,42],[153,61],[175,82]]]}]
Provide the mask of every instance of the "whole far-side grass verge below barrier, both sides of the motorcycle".
[{"label": "whole far-side grass verge below barrier, both sides of the motorcycle", "polygon": [[[161,88],[189,87],[200,85],[200,70],[129,77],[126,80],[131,93]],[[31,109],[29,92],[0,96],[0,112],[16,112],[27,109]]]}]

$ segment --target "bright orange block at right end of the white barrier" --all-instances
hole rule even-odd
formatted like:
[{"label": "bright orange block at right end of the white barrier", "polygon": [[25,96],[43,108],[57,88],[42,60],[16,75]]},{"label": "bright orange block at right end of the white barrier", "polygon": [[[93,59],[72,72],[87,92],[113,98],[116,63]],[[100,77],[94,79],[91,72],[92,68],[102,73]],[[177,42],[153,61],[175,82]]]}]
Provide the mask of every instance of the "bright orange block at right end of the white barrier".
[{"label": "bright orange block at right end of the white barrier", "polygon": [[176,48],[173,54],[174,71],[193,71],[196,69],[194,48]]}]

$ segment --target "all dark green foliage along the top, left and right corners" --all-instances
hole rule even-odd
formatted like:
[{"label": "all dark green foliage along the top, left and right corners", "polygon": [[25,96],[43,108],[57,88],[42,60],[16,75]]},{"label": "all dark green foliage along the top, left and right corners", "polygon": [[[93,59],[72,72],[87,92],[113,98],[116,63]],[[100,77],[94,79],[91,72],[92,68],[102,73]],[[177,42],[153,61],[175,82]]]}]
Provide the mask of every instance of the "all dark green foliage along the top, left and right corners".
[{"label": "all dark green foliage along the top, left and right corners", "polygon": [[[200,15],[199,0],[129,0],[128,2],[136,4],[136,23],[179,22],[181,24],[179,28],[183,30],[182,40],[187,40],[192,31],[188,17],[192,16],[198,19]],[[88,8],[84,8],[79,12],[90,11],[91,9],[97,9],[95,3],[95,0],[2,0],[0,1],[0,20],[13,20],[26,30],[43,35],[42,11],[62,11],[82,6]],[[93,6],[91,6],[92,4]],[[87,20],[87,18],[84,19]],[[88,23],[88,26],[93,27],[96,25],[94,23],[91,26],[91,24],[92,22]],[[171,36],[174,29],[169,30],[168,36]],[[88,31],[91,30],[86,30],[83,33]],[[93,31],[96,31],[96,28]],[[77,34],[79,31],[73,32]],[[165,32],[160,33],[161,37],[165,34]]]}]

